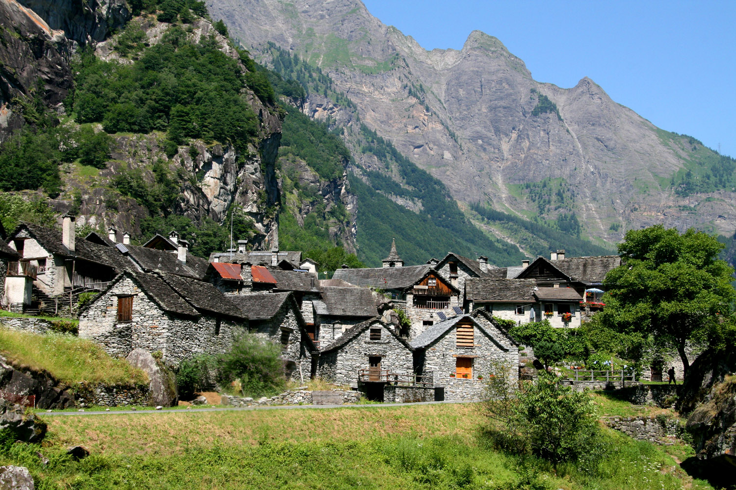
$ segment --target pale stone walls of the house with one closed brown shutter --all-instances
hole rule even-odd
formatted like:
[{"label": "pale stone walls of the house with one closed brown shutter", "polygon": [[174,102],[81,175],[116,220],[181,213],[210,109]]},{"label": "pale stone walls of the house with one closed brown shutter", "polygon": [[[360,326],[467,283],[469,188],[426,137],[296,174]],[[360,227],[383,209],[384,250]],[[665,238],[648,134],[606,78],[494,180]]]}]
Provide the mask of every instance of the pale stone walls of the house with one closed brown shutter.
[{"label": "pale stone walls of the house with one closed brown shutter", "polygon": [[[118,300],[132,296],[129,322],[118,322]],[[110,356],[127,356],[141,347],[160,351],[166,364],[177,366],[198,353],[224,353],[246,325],[200,314],[183,316],[164,311],[138,281],[125,275],[96,297],[79,317],[79,336],[102,345]]]}]

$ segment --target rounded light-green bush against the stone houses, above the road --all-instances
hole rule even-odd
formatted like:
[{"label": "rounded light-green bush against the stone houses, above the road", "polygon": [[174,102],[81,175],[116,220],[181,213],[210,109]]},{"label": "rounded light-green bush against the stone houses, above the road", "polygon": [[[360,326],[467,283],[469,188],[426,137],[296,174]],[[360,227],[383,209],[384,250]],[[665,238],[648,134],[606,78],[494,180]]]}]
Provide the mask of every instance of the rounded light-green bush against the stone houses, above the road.
[{"label": "rounded light-green bush against the stone houses, above the road", "polygon": [[286,386],[281,346],[256,334],[243,334],[230,352],[219,356],[218,381],[222,386],[240,381],[241,393],[252,397],[277,394]]}]

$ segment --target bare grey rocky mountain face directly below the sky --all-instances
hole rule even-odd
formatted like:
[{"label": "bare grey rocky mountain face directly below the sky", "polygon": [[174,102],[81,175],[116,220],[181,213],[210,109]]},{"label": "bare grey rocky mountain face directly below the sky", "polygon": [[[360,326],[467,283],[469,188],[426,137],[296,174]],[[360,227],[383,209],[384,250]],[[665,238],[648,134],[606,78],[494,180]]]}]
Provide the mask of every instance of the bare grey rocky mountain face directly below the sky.
[{"label": "bare grey rocky mountain face directly below the sky", "polygon": [[[590,79],[570,89],[534,81],[482,32],[460,51],[425,51],[358,0],[213,0],[210,12],[252,51],[272,41],[321,67],[363,123],[458,201],[542,220],[575,212],[584,234],[609,242],[653,223],[736,228],[730,184],[675,192],[707,166],[699,142],[657,129]],[[567,184],[566,202],[526,188],[548,179]]]}]

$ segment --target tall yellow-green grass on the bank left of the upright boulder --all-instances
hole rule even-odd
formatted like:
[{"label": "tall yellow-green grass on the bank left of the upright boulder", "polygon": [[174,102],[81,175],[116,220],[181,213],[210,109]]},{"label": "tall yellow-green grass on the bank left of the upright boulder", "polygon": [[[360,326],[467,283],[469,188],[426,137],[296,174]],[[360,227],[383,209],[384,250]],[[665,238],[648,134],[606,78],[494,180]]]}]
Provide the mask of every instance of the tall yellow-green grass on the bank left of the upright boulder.
[{"label": "tall yellow-green grass on the bank left of the upright boulder", "polygon": [[49,372],[57,381],[137,385],[148,383],[146,373],[125,359],[113,359],[89,340],[64,334],[30,334],[0,328],[0,353],[15,365]]}]

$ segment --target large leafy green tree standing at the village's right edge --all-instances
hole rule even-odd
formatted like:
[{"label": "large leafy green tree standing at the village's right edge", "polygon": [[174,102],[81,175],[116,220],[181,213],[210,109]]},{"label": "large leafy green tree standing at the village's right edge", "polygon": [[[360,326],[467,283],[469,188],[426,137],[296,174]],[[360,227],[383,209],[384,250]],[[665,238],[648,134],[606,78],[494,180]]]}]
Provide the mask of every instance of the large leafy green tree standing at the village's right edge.
[{"label": "large leafy green tree standing at the village's right edge", "polygon": [[622,264],[604,281],[601,322],[675,347],[687,377],[687,342],[718,337],[736,299],[733,268],[718,259],[721,248],[717,239],[693,229],[679,234],[657,225],[627,231],[618,246]]}]

